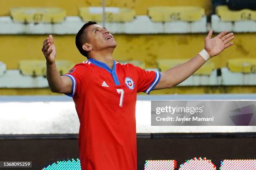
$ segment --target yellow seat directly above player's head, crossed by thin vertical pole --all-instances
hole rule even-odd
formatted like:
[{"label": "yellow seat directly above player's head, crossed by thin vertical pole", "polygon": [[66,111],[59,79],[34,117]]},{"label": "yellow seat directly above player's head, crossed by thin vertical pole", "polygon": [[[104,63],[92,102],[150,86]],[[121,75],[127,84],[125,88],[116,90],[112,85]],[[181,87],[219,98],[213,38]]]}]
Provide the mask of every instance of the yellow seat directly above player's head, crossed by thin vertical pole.
[{"label": "yellow seat directly above player's head, crossed by thin vertical pole", "polygon": [[[84,21],[102,22],[102,7],[80,7],[79,15]],[[130,8],[106,7],[106,22],[129,22],[135,18],[135,10]]]}]

